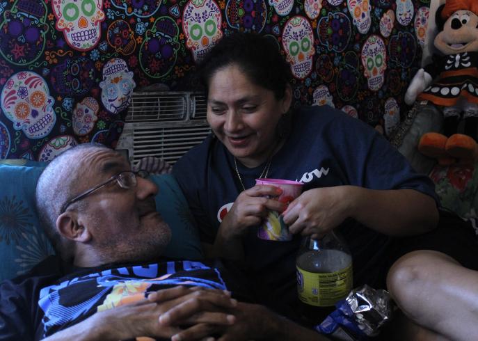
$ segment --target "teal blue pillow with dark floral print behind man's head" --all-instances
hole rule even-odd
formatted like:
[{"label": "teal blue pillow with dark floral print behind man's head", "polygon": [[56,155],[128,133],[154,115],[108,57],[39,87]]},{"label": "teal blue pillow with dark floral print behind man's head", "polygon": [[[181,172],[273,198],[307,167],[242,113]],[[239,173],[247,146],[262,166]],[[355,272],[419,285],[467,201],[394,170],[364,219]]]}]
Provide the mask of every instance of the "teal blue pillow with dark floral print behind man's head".
[{"label": "teal blue pillow with dark floral print behind man's head", "polygon": [[[35,212],[36,182],[45,162],[0,160],[0,281],[29,271],[54,253]],[[151,175],[158,212],[171,228],[164,255],[200,260],[202,249],[186,198],[173,175]]]}]

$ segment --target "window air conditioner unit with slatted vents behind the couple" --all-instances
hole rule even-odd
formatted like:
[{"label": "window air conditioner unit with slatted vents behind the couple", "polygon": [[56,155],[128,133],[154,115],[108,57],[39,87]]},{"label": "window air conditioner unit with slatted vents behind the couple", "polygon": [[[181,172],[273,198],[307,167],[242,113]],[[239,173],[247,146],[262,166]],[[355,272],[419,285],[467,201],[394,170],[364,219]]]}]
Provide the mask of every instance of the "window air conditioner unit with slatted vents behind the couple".
[{"label": "window air conditioner unit with slatted vents behind the couple", "polygon": [[132,164],[152,156],[173,165],[209,134],[206,112],[202,93],[133,93],[116,149],[127,149]]}]

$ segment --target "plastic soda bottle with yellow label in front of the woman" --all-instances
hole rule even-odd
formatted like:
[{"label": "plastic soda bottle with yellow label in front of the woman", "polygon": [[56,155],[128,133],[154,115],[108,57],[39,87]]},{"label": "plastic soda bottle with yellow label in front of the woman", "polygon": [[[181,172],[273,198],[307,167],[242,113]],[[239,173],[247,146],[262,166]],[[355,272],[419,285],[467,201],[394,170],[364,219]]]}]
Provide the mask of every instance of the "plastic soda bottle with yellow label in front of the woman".
[{"label": "plastic soda bottle with yellow label in front of the woman", "polygon": [[352,256],[335,231],[320,240],[303,239],[296,269],[298,299],[305,308],[333,307],[352,289]]}]

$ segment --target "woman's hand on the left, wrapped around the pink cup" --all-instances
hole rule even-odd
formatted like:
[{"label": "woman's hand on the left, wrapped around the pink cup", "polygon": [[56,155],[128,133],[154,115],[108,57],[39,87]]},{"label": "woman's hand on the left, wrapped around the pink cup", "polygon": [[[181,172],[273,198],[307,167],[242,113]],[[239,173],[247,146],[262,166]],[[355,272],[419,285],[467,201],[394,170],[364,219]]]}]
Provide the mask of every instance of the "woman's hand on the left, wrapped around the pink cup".
[{"label": "woman's hand on the left, wrapped around the pink cup", "polygon": [[285,205],[273,199],[280,193],[280,188],[266,185],[256,185],[241,192],[221,223],[220,233],[223,239],[241,238],[248,228],[262,223],[269,209],[282,212]]}]

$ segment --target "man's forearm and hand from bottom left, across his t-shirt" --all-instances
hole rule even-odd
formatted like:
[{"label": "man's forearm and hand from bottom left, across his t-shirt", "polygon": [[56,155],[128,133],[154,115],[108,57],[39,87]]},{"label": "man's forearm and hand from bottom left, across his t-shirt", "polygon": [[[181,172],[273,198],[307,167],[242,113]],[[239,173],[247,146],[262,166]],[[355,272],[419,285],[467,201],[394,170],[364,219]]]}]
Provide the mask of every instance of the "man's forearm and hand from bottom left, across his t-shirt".
[{"label": "man's forearm and hand from bottom left, across his t-shirt", "polygon": [[[118,341],[138,336],[171,338],[180,332],[180,325],[188,326],[186,331],[191,329],[195,338],[202,338],[215,333],[220,326],[234,323],[235,318],[223,310],[236,305],[237,301],[221,290],[173,287],[159,290],[148,299],[97,312],[44,340]],[[160,322],[160,317],[175,307],[180,308],[180,318],[174,324]]]}]

